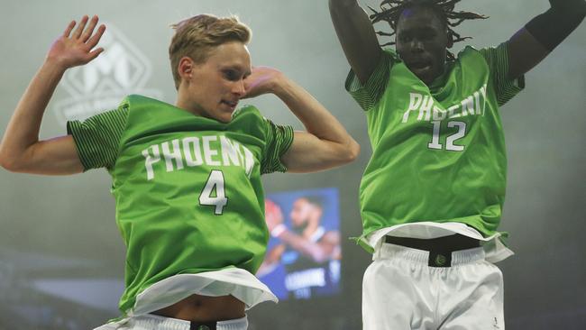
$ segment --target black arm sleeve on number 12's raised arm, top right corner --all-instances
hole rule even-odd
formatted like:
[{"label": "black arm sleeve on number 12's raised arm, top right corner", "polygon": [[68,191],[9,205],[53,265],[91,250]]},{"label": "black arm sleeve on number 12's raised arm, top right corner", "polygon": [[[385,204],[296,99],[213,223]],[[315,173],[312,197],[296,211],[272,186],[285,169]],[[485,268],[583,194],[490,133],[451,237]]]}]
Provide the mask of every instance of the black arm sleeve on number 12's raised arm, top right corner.
[{"label": "black arm sleeve on number 12's raised arm, top right corner", "polygon": [[552,8],[526,23],[525,28],[547,50],[554,50],[580,25],[586,15],[586,1],[550,0],[550,3]]}]

